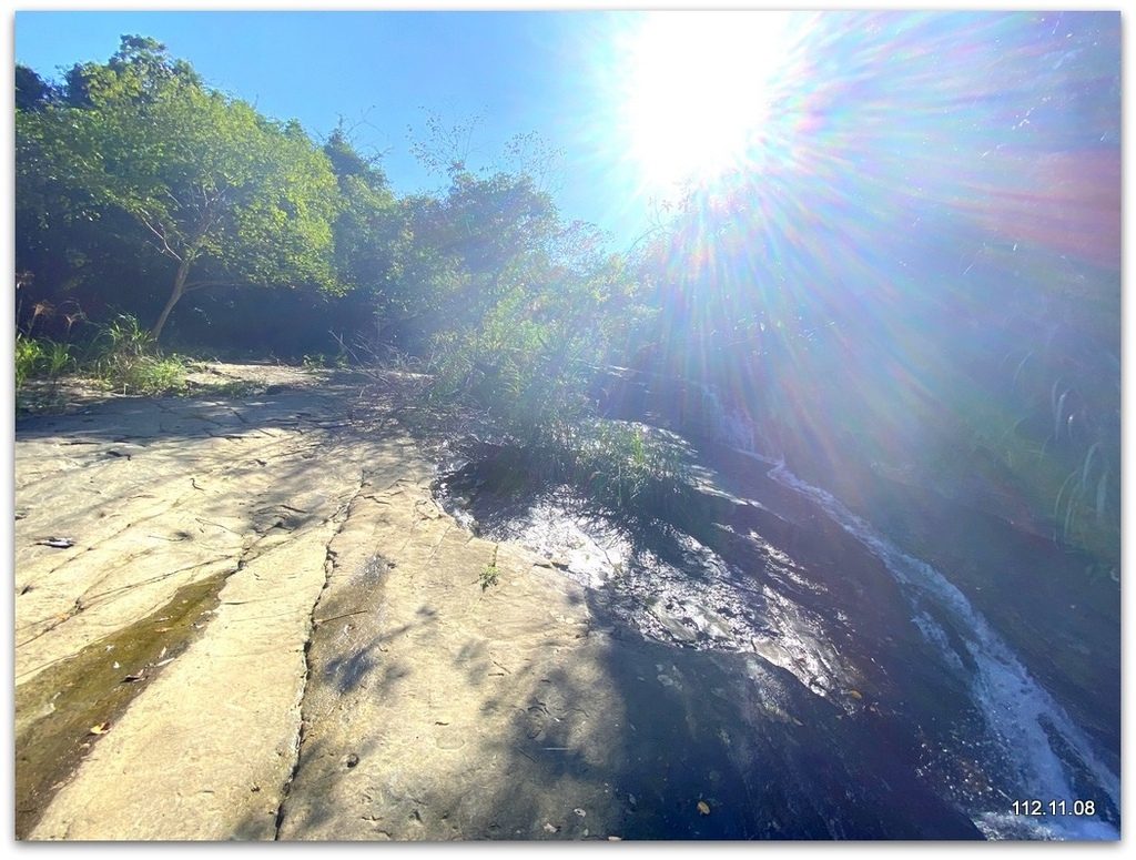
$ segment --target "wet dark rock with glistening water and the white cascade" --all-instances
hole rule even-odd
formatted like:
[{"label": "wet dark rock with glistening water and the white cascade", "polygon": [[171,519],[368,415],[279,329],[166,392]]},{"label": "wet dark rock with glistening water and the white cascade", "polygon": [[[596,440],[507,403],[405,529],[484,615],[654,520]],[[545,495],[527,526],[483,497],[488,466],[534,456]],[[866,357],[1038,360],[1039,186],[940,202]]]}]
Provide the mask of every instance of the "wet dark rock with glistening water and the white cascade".
[{"label": "wet dark rock with glistening water and the white cascade", "polygon": [[[754,453],[746,421],[713,406],[726,444],[704,446],[696,465],[715,511],[698,534],[617,518],[568,487],[507,491],[508,462],[491,454],[450,464],[438,498],[483,536],[542,552],[644,637],[737,654],[766,687],[761,667],[777,667],[812,701],[871,716],[888,735],[888,773],[908,771],[986,838],[1118,840],[1116,750],[1101,749],[947,576]],[[811,742],[832,755],[866,743],[843,732]],[[821,761],[779,778],[824,785],[833,777]],[[897,807],[918,802],[891,794]],[[825,825],[808,837],[858,836],[851,811],[812,811]]]}]

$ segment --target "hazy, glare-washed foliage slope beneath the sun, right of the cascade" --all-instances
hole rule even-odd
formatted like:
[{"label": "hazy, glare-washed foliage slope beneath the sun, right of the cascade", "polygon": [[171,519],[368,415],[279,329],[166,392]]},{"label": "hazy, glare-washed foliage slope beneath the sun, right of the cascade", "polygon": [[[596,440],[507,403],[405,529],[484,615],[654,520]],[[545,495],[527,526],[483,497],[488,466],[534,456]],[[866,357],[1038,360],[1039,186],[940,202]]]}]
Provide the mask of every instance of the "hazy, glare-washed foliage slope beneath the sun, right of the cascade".
[{"label": "hazy, glare-washed foliage slope beneath the sun, right of the cascade", "polygon": [[1119,570],[1119,272],[953,220],[841,256],[824,224],[778,234],[762,182],[692,190],[645,244],[651,369],[744,391],[765,451],[813,483],[916,476]]}]

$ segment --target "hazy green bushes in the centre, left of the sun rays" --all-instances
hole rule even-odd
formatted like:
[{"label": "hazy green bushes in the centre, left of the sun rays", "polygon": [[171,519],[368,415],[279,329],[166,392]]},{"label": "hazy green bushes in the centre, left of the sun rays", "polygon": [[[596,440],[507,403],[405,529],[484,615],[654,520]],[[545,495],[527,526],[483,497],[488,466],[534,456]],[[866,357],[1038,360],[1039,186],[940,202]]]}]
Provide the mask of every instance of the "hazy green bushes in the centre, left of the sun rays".
[{"label": "hazy green bushes in the centre, left of the sun rays", "polygon": [[432,341],[431,395],[482,410],[532,481],[575,485],[625,515],[688,508],[677,442],[595,420],[587,395],[651,316],[640,269],[594,226],[565,223],[528,174],[476,177],[449,155],[467,142],[458,127],[423,150],[451,181],[416,222],[416,239],[445,249],[432,258],[448,316]]}]

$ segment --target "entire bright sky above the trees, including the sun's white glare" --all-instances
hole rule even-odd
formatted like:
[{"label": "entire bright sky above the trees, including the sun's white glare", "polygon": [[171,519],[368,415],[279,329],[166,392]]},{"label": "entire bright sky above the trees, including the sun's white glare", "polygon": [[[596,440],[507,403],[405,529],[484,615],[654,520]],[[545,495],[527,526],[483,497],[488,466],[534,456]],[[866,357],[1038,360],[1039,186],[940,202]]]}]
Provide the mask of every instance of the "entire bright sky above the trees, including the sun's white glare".
[{"label": "entire bright sky above the trees, including the sun's white glare", "polygon": [[[1119,86],[1119,59],[1111,33],[1094,35],[1100,19],[900,10],[866,26],[769,12],[187,8],[19,11],[15,60],[53,77],[105,62],[123,34],[152,36],[214,86],[299,119],[317,140],[342,117],[360,151],[383,155],[399,193],[445,184],[410,152],[408,126],[424,133],[429,111],[450,124],[483,117],[474,168],[536,132],[563,151],[561,212],[610,231],[613,250],[649,228],[651,198],[677,197],[683,172],[741,166],[783,190],[770,224],[786,232],[846,211],[866,226],[869,212],[913,201],[995,231],[1009,224],[1014,239],[1119,256],[1119,236],[1100,247],[1100,225],[1085,220],[1070,240],[1060,217],[1112,206],[1100,200],[1118,182],[1119,117],[1050,98],[1111,105],[1101,97]],[[1037,165],[1049,173],[1033,175]],[[1050,182],[1069,170],[1083,174],[1076,187]],[[1038,199],[1017,212],[1022,187]],[[883,220],[861,250],[892,228]]]}]

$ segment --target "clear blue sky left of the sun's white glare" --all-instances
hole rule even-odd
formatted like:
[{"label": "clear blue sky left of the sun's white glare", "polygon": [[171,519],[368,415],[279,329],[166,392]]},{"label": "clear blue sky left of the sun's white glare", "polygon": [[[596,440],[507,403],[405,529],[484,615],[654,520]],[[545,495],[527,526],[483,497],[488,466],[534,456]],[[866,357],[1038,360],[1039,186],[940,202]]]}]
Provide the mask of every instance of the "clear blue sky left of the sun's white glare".
[{"label": "clear blue sky left of the sun's white glare", "polygon": [[[617,250],[644,227],[635,177],[601,127],[608,48],[619,16],[584,11],[19,11],[15,60],[58,77],[75,62],[105,62],[119,36],[165,43],[214,86],[264,114],[296,118],[321,139],[343,117],[360,151],[382,152],[400,193],[434,190],[410,155],[408,126],[427,111],[459,122],[484,116],[474,143],[500,153],[537,132],[565,150],[561,211],[616,234]],[[426,110],[424,110],[425,108]]]}]

